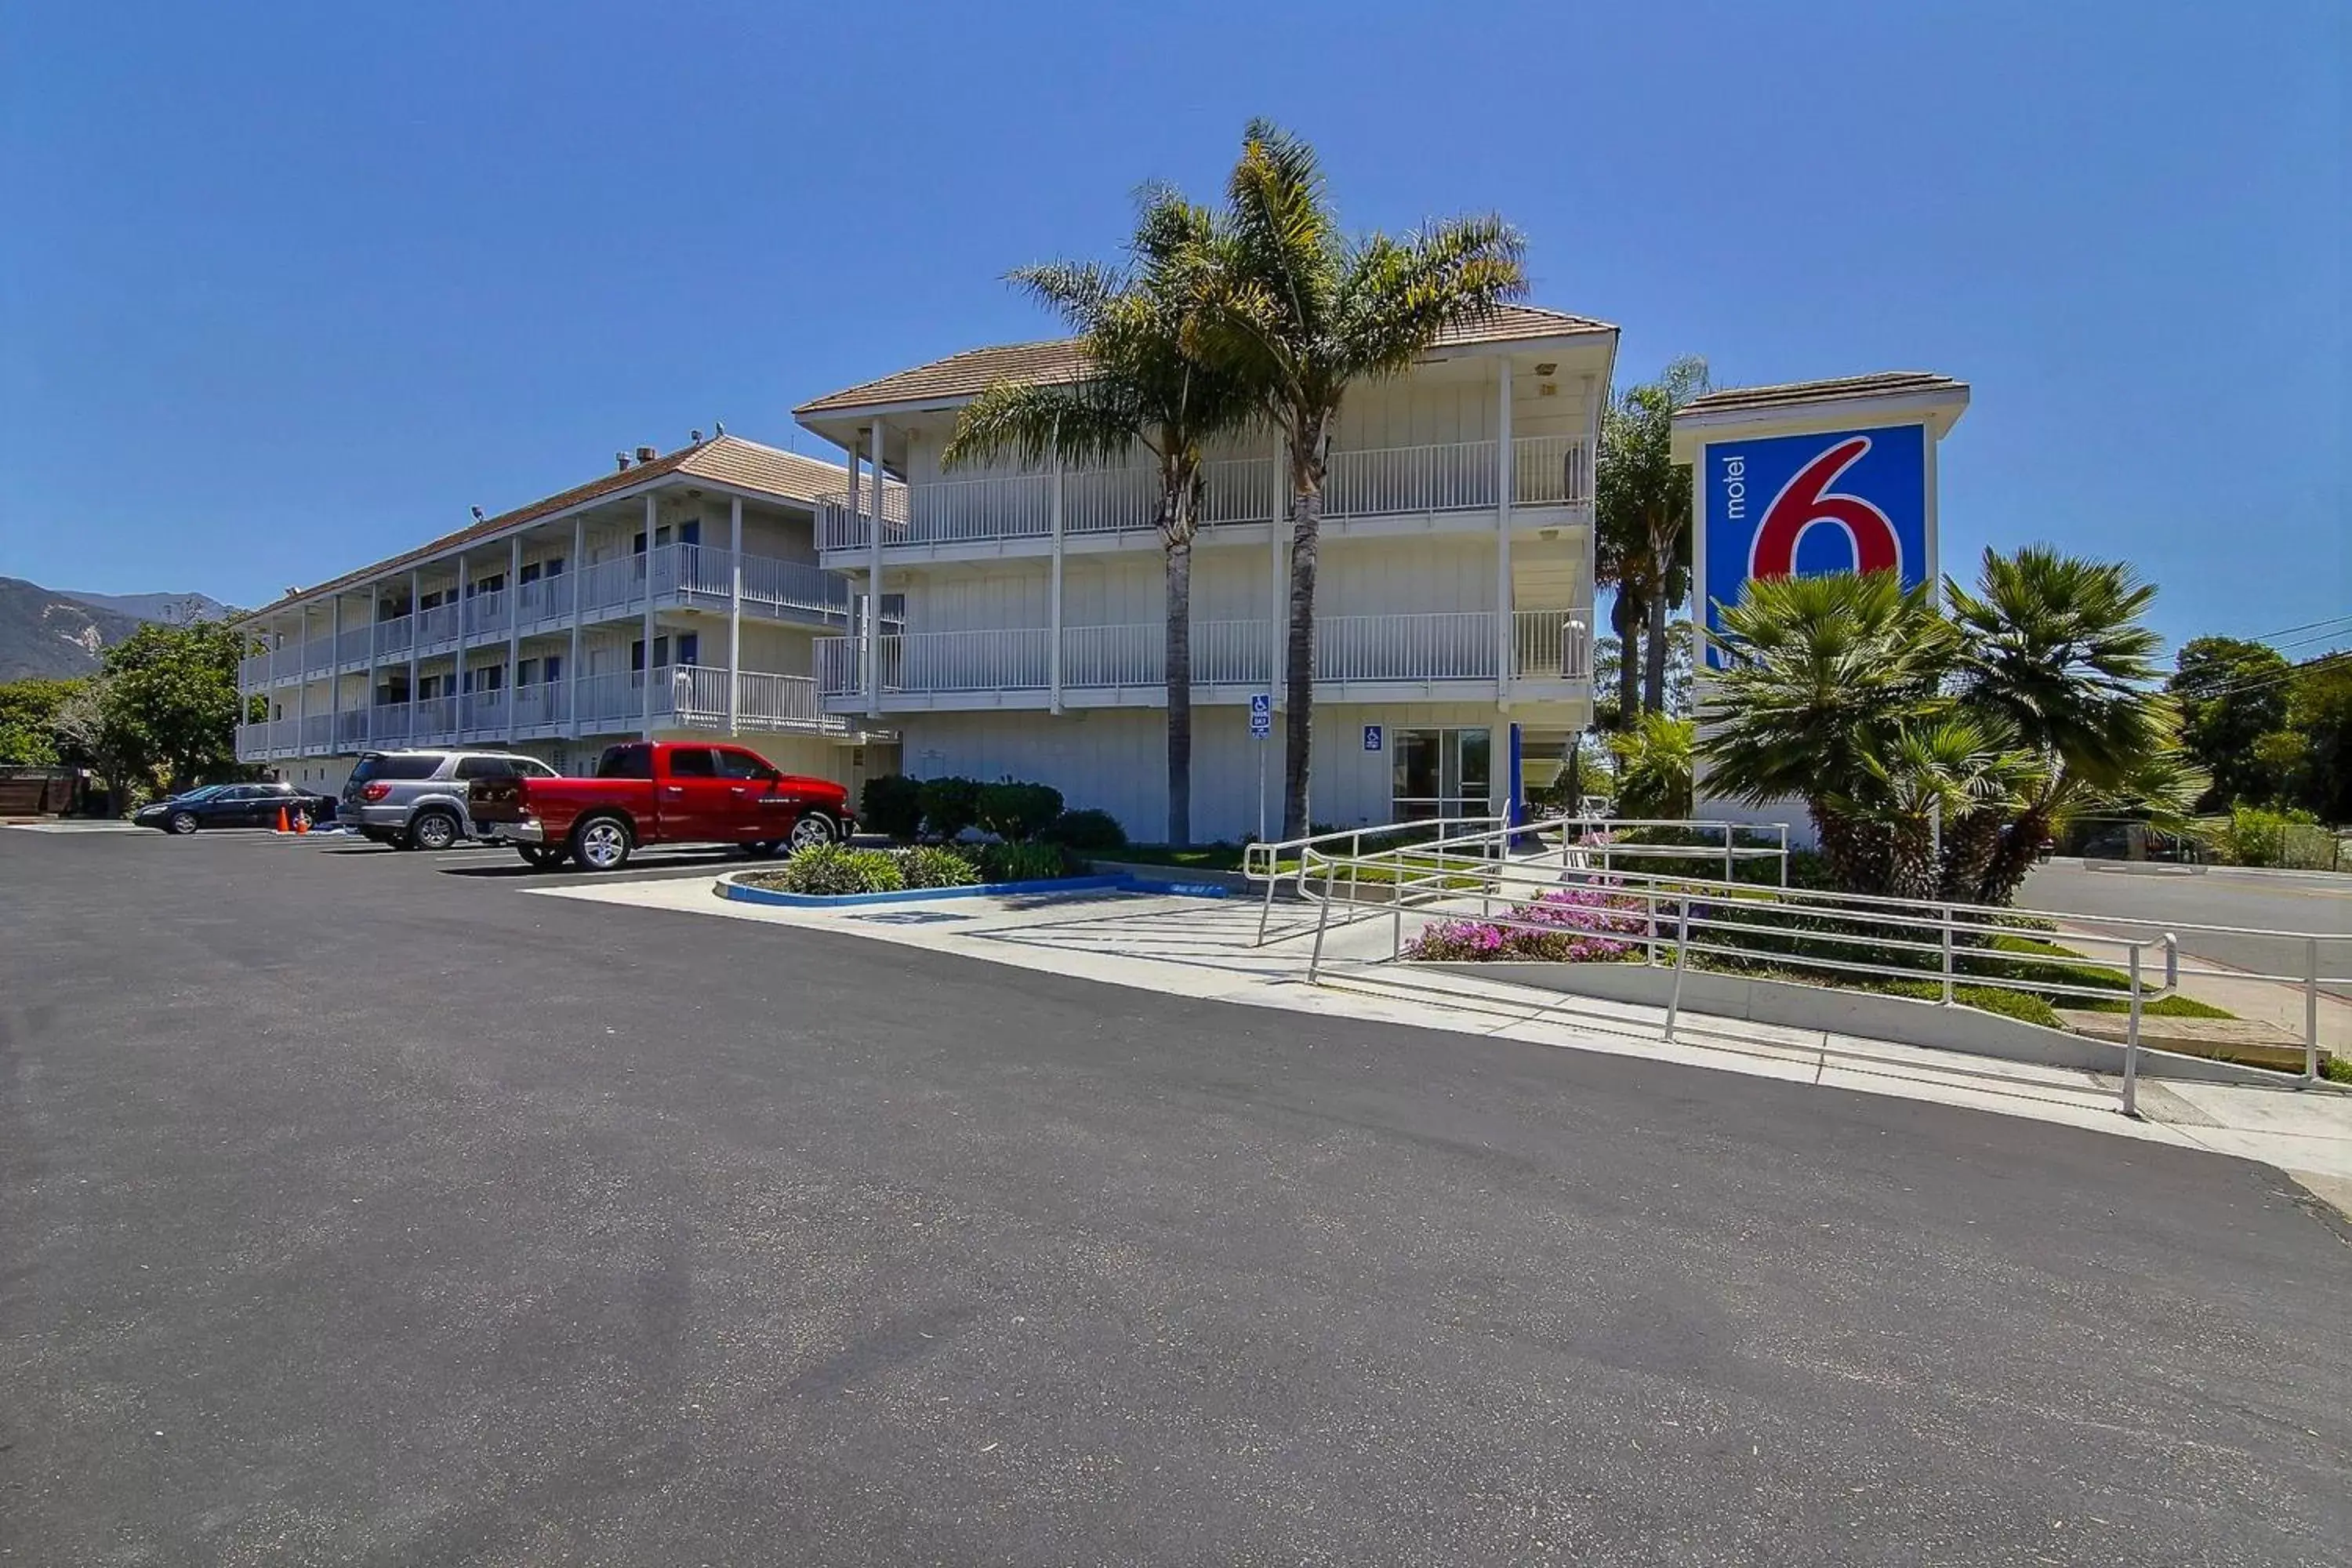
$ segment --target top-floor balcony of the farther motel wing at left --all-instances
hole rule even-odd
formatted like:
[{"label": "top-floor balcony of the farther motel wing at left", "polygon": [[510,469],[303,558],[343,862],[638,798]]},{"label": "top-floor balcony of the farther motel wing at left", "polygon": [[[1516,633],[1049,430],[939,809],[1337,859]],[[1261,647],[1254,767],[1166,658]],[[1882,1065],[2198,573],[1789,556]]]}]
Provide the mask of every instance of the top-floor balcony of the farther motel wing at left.
[{"label": "top-floor balcony of the farther motel wing at left", "polygon": [[[249,654],[240,668],[247,691],[322,675],[365,672],[405,663],[409,656],[452,654],[461,646],[501,644],[508,637],[553,632],[581,623],[628,621],[654,609],[701,609],[727,614],[734,602],[736,552],[710,545],[661,545],[623,559],[499,588],[433,609],[393,616],[374,625],[315,632]],[[743,614],[793,625],[844,625],[849,583],[807,562],[743,552]]]}]

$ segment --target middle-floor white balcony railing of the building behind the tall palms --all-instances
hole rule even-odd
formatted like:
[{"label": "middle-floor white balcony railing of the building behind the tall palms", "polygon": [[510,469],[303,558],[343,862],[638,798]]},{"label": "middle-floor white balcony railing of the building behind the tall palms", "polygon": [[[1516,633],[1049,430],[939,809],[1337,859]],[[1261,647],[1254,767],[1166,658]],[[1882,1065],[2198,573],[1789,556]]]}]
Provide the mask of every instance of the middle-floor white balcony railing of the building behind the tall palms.
[{"label": "middle-floor white balcony railing of the building behind the tall palms", "polygon": [[[1044,691],[1054,684],[1051,639],[1049,628],[882,637],[882,691]],[[1275,684],[1279,656],[1270,621],[1195,621],[1190,651],[1195,686]],[[1494,611],[1324,616],[1315,628],[1315,679],[1322,682],[1491,682],[1503,658]],[[1590,679],[1588,616],[1512,611],[1508,661],[1508,679],[1515,682]],[[823,696],[863,696],[863,646],[856,637],[816,639],[816,682]],[[1164,684],[1162,623],[1063,628],[1065,691]]]}]

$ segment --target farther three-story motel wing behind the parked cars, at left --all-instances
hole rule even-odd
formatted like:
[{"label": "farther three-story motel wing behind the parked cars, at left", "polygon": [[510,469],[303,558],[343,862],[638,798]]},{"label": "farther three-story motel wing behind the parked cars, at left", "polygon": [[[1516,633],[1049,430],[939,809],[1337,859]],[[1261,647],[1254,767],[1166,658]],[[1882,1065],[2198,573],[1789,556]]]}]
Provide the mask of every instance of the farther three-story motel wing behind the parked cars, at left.
[{"label": "farther three-story motel wing behind the parked cars, at left", "polygon": [[[245,618],[266,717],[238,759],[339,790],[369,750],[513,748],[586,771],[626,738],[727,736],[856,785],[889,736],[830,712],[811,642],[849,583],[816,552],[844,473],[734,435],[616,454],[597,480]],[[889,501],[884,501],[887,505]]]}]

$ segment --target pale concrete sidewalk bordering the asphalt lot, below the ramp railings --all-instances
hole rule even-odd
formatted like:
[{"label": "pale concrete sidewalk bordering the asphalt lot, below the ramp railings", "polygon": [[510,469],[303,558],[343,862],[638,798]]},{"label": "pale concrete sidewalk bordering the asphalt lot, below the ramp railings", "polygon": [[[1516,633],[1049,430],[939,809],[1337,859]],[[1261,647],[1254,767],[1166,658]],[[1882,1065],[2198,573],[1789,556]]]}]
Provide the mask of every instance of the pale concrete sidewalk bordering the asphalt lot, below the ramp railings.
[{"label": "pale concrete sidewalk bordering the asphalt lot, below the ramp railings", "polygon": [[1663,1009],[1564,997],[1378,964],[1385,917],[1324,933],[1324,983],[1305,978],[1315,917],[1275,905],[1254,947],[1258,905],[1242,898],[1035,896],[955,898],[861,910],[786,910],[717,898],[701,877],[532,889],[546,898],[673,910],[957,952],[1164,994],[1275,1006],[1531,1046],[1639,1056],[1820,1088],[1962,1105],[2117,1138],[2258,1159],[2352,1213],[2352,1095],[2211,1084],[2140,1084],[2143,1121],[2119,1112],[2119,1081],[1896,1041],[1733,1023],[1684,1011],[1672,1041]]}]

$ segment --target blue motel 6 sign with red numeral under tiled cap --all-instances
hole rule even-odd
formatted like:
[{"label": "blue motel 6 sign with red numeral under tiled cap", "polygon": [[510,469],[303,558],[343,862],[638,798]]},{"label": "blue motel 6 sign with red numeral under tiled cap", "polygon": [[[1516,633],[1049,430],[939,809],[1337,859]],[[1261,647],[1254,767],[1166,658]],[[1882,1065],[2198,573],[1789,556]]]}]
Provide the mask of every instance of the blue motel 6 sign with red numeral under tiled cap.
[{"label": "blue motel 6 sign with red numeral under tiled cap", "polygon": [[[1738,393],[1703,397],[1675,416],[1698,505],[1698,602],[1708,668],[1722,668],[1719,604],[1750,581],[1825,571],[1893,571],[1905,588],[1936,581],[1936,442],[1959,418],[1969,388],[1943,376],[1891,393],[1853,381],[1769,388],[1771,407]],[[1729,402],[1731,407],[1710,407]]]}]

